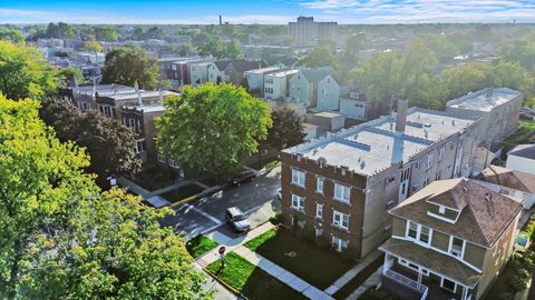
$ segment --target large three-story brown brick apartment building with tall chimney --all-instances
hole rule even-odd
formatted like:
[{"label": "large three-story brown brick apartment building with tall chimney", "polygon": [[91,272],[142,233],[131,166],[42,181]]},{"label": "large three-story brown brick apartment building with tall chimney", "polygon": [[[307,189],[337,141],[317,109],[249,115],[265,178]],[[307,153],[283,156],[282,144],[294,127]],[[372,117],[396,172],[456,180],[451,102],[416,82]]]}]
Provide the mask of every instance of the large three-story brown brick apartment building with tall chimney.
[{"label": "large three-story brown brick apartment building with tall chimney", "polygon": [[281,152],[282,213],[364,257],[390,237],[388,210],[430,182],[466,176],[478,118],[407,109]]}]

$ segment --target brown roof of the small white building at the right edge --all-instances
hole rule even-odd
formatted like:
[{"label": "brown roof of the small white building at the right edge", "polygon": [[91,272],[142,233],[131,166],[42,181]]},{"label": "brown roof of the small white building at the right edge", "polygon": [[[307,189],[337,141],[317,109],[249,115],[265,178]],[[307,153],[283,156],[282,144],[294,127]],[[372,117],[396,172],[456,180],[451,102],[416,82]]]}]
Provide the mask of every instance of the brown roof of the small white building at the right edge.
[{"label": "brown roof of the small white building at the right edge", "polygon": [[523,192],[535,193],[535,174],[531,173],[490,166],[483,170],[476,179]]}]

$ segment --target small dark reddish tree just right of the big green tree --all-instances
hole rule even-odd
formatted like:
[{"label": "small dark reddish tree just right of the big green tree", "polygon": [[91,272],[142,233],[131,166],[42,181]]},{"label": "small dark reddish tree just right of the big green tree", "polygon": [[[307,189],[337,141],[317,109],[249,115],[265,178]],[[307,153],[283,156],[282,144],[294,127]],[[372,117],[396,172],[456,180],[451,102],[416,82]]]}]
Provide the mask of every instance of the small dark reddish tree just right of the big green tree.
[{"label": "small dark reddish tree just right of the big green tree", "polygon": [[303,142],[303,118],[294,110],[284,108],[271,112],[273,127],[268,130],[266,141],[282,150]]}]

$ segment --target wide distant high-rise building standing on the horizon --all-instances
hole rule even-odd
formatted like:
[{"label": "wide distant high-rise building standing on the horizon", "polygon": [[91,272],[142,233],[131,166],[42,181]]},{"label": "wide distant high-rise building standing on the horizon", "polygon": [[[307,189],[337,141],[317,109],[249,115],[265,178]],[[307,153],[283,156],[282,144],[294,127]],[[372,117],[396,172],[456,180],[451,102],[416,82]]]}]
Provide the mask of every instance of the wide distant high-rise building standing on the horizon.
[{"label": "wide distant high-rise building standing on the horizon", "polygon": [[314,46],[319,40],[335,40],[337,22],[314,22],[313,17],[299,17],[296,22],[289,22],[290,36],[299,46]]}]

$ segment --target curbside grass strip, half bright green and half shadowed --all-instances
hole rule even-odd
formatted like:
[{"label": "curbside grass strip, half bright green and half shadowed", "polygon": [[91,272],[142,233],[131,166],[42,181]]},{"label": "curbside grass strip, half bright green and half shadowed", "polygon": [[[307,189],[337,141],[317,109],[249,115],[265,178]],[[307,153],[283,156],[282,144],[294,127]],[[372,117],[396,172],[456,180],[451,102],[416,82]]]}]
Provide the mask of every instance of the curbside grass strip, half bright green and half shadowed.
[{"label": "curbside grass strip, half bright green and half shadowed", "polygon": [[225,257],[225,268],[221,269],[221,262],[215,261],[206,267],[206,271],[251,300],[307,299],[234,252]]}]

